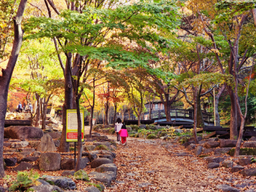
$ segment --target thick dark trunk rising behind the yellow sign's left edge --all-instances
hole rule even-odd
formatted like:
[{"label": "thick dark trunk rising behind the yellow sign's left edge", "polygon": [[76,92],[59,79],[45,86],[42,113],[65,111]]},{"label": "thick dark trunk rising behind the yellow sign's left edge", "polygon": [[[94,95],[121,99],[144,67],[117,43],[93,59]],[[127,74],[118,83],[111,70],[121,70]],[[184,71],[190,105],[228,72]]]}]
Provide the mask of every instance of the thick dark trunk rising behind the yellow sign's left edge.
[{"label": "thick dark trunk rising behind the yellow sign's left edge", "polygon": [[62,113],[62,133],[60,139],[60,147],[59,152],[68,152],[69,151],[69,142],[66,141],[67,134],[67,109],[72,109],[72,96],[73,96],[73,86],[71,82],[70,72],[68,67],[71,66],[72,54],[68,53],[68,57],[66,60],[66,70],[65,70],[65,101],[63,105],[63,113]]}]

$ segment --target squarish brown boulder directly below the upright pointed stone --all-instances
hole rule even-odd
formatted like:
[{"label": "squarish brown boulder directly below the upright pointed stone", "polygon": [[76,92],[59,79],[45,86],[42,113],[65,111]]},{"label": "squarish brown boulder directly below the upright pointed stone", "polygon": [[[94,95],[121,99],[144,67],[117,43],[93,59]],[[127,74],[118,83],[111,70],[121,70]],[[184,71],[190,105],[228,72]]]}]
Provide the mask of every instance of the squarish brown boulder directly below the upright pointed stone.
[{"label": "squarish brown boulder directly below the upright pointed stone", "polygon": [[44,171],[60,170],[61,157],[58,153],[43,153],[39,157],[39,168]]}]

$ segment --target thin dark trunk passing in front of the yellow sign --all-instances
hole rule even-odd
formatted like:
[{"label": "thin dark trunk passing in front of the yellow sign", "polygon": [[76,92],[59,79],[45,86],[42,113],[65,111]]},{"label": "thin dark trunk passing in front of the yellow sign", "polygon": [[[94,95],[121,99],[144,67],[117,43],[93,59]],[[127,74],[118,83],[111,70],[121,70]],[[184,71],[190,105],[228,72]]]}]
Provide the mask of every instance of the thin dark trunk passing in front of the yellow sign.
[{"label": "thin dark trunk passing in front of the yellow sign", "polygon": [[77,163],[76,163],[75,172],[80,170],[81,160],[82,160],[82,151],[83,151],[83,149],[82,149],[82,121],[81,121],[81,115],[80,115],[80,109],[79,109],[78,95],[76,95],[76,114],[77,114],[77,123],[78,123],[78,127],[77,127],[78,154],[77,154]]}]

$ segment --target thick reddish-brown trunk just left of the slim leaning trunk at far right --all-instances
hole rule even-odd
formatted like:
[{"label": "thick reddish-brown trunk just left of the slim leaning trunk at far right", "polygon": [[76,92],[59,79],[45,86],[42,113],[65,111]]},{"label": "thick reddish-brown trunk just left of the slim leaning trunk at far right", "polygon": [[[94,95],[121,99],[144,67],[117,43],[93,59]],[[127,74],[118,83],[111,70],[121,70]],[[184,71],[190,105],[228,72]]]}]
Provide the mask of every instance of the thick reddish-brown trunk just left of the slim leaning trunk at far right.
[{"label": "thick reddish-brown trunk just left of the slim leaning trunk at far right", "polygon": [[231,86],[227,86],[229,97],[231,100],[231,112],[230,112],[230,139],[236,140],[237,139],[237,105],[236,105],[236,98],[235,93],[232,90]]}]

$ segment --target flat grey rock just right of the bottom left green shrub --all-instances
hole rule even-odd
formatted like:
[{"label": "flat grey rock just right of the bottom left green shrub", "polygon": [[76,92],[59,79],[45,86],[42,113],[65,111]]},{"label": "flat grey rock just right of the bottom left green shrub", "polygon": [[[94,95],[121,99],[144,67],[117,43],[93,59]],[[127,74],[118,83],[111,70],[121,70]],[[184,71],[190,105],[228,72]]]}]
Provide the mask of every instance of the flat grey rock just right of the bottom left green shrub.
[{"label": "flat grey rock just right of the bottom left green shrub", "polygon": [[55,186],[58,186],[62,189],[74,190],[76,188],[76,183],[72,179],[67,177],[43,175],[42,178],[44,178],[44,180],[46,181],[52,181]]}]

